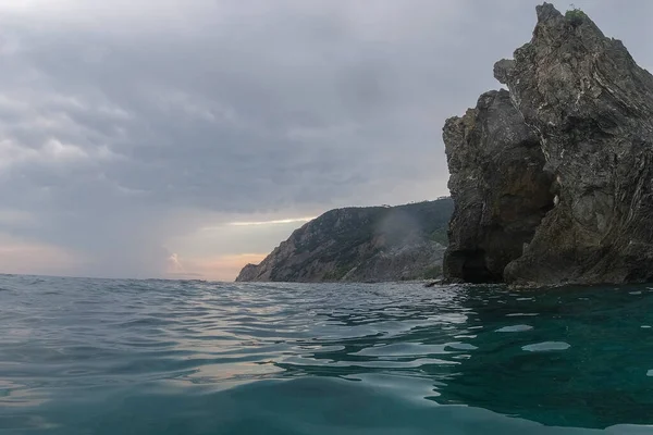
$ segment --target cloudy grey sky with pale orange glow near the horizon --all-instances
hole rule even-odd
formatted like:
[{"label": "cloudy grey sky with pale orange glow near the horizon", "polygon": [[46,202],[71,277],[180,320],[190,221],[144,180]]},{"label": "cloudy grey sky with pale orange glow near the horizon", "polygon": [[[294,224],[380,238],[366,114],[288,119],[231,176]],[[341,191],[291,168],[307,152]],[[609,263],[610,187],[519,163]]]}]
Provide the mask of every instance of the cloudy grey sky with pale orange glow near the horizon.
[{"label": "cloudy grey sky with pale orange glow near the horizon", "polygon": [[[448,195],[444,120],[538,3],[0,0],[0,273],[231,281],[329,209]],[[575,2],[651,71],[624,4]]]}]

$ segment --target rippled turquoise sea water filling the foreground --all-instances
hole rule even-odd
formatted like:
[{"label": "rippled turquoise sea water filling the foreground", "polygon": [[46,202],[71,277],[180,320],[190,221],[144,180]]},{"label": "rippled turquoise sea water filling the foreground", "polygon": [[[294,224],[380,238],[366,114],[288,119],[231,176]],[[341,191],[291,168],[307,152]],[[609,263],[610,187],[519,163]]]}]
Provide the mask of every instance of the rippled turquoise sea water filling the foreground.
[{"label": "rippled turquoise sea water filling the foreground", "polygon": [[653,434],[652,288],[0,275],[0,434]]}]

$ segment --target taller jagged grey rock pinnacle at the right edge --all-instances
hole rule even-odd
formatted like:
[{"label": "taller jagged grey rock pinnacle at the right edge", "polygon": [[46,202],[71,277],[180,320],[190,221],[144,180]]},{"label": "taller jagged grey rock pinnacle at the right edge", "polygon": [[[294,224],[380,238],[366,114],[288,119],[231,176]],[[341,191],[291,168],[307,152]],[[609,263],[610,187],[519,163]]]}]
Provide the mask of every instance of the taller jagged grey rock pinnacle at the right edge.
[{"label": "taller jagged grey rock pinnacle at the right edge", "polygon": [[[547,3],[537,11],[532,40],[515,51],[514,60],[497,62],[494,75],[507,85],[521,123],[537,135],[545,164],[544,174],[535,178],[544,191],[552,187],[553,177],[555,207],[523,252],[506,265],[504,279],[521,284],[651,281],[653,77],[584,13],[563,15]],[[503,140],[497,148],[514,148],[512,144]],[[488,158],[478,165],[504,171]],[[514,170],[522,171],[523,165]],[[494,196],[507,192],[501,183],[490,183]],[[477,207],[492,203],[493,196],[479,187],[463,190],[467,197],[478,196]],[[505,204],[501,213],[522,213],[528,204]],[[454,219],[452,235],[459,228]],[[470,237],[480,244],[481,237]]]}]

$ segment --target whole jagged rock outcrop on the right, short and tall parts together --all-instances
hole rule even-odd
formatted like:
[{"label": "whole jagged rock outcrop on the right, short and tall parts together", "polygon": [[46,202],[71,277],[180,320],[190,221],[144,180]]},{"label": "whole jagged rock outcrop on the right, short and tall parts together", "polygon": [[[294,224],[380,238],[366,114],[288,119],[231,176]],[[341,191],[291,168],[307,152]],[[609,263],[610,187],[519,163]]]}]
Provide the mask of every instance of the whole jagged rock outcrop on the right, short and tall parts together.
[{"label": "whole jagged rock outcrop on the right, short and tall parts together", "polygon": [[[531,41],[515,51],[514,60],[494,66],[513,108],[488,107],[485,95],[471,114],[445,125],[456,192],[445,272],[454,279],[502,275],[519,284],[651,281],[653,76],[583,12],[563,15],[544,3],[537,13]],[[519,115],[501,114],[512,110]],[[475,129],[479,120],[485,124]],[[520,133],[496,137],[493,125]],[[525,126],[539,147],[526,140]],[[477,137],[461,137],[461,128]],[[516,154],[522,163],[504,160]],[[458,163],[467,156],[476,160]],[[543,202],[529,200],[529,189]],[[546,204],[547,191],[553,204]],[[501,200],[515,192],[515,201]],[[538,224],[544,214],[535,212],[540,204],[545,215]],[[512,216],[508,221],[523,229],[521,249],[508,232],[494,231],[490,222],[497,215]],[[468,263],[468,269],[488,270],[486,277],[467,276],[459,264]]]}]

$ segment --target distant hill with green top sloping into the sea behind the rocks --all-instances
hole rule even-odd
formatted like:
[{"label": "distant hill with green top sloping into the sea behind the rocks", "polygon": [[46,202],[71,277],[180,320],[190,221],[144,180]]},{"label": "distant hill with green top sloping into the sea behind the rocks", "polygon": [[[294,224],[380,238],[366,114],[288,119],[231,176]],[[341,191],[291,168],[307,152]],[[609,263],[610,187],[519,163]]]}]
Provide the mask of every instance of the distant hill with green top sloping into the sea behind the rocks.
[{"label": "distant hill with green top sloping into the sea behind the rocks", "polygon": [[308,222],[238,282],[387,282],[441,275],[451,198],[335,209]]}]

